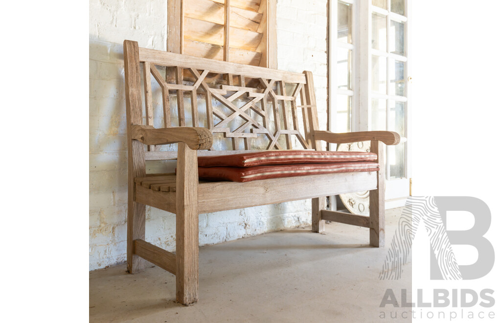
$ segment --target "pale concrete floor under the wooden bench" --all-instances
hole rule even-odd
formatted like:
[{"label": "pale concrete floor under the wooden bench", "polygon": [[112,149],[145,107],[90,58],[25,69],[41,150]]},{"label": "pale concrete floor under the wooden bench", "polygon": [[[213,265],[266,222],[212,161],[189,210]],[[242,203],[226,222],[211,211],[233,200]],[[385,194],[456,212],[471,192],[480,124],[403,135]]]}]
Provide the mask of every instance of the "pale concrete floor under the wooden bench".
[{"label": "pale concrete floor under the wooden bench", "polygon": [[134,275],[125,264],[91,271],[90,321],[395,321],[379,318],[379,304],[387,288],[411,289],[411,263],[400,280],[378,274],[400,213],[386,212],[384,248],[369,247],[367,228],[341,223],[328,223],[326,234],[306,227],[200,247],[191,306],[175,302],[174,275],[152,264]]}]

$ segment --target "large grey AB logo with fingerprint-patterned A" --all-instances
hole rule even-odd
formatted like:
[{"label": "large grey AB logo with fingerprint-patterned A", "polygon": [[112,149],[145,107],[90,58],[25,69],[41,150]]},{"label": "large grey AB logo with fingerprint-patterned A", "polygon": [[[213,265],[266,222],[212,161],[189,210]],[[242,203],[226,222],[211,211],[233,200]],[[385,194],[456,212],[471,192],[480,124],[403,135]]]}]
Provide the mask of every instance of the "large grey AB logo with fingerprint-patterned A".
[{"label": "large grey AB logo with fingerprint-patterned A", "polygon": [[[475,221],[468,230],[446,230],[447,211],[470,212]],[[417,228],[423,223],[430,239],[431,279],[477,279],[494,265],[494,248],[483,237],[490,226],[490,210],[482,200],[469,196],[412,196],[407,199],[390,249],[379,274],[380,279],[399,279],[410,255]],[[452,245],[471,245],[478,259],[458,265]]]}]

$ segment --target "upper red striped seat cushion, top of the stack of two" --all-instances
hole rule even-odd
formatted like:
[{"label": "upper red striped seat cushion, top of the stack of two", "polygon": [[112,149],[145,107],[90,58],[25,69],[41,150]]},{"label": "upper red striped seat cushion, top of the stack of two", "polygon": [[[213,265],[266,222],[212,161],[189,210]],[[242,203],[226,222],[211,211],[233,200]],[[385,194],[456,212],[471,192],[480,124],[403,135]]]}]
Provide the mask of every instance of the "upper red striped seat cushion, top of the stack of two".
[{"label": "upper red striped seat cushion, top of the stack of two", "polygon": [[226,156],[198,157],[199,167],[373,162],[375,153],[357,151],[268,150]]}]

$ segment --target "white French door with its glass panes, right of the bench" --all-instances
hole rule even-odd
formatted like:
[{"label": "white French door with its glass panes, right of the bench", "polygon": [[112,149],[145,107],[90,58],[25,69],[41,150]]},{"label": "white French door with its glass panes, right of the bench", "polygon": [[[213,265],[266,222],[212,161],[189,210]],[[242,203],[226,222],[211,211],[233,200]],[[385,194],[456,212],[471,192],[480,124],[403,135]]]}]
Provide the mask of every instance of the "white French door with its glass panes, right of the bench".
[{"label": "white French door with its glass panes, right of the bench", "polygon": [[[409,137],[409,1],[331,0],[331,131]],[[409,195],[408,144],[386,147],[387,201]]]}]

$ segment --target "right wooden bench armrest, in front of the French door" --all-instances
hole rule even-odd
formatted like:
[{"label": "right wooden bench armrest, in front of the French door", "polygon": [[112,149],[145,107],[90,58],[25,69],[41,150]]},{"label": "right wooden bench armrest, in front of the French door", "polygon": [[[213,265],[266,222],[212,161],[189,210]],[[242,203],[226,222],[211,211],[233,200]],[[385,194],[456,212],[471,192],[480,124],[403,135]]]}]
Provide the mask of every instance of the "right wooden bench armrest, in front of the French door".
[{"label": "right wooden bench armrest, in front of the French door", "polygon": [[[404,139],[402,137],[402,139]],[[349,142],[379,140],[387,145],[397,145],[400,142],[400,135],[393,131],[358,131],[346,133],[334,133],[330,131],[315,131],[315,140],[324,140],[335,144]]]}]

